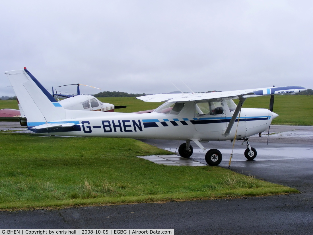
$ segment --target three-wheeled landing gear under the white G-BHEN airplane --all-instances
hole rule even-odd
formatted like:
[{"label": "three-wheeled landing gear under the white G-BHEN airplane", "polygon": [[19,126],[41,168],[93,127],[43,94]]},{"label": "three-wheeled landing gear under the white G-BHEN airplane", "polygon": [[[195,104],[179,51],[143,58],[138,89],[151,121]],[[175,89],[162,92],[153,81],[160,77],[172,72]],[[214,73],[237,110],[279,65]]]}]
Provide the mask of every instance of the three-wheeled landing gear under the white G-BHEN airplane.
[{"label": "three-wheeled landing gear under the white G-BHEN airplane", "polygon": [[[242,145],[244,143],[247,143],[247,149],[244,151],[244,156],[248,160],[253,160],[256,157],[256,150],[252,148],[249,144],[249,139],[241,139],[244,140]],[[202,144],[197,140],[197,139],[192,139],[195,144],[199,146],[200,149],[205,151],[206,149],[202,146]],[[178,148],[178,153],[181,157],[183,158],[189,158],[192,153],[193,153],[193,148],[190,145],[190,140],[187,140],[186,143],[181,144]],[[206,154],[205,154],[205,161],[207,162],[208,165],[210,166],[217,166],[221,163],[222,161],[222,154],[218,149],[210,149]]]}]

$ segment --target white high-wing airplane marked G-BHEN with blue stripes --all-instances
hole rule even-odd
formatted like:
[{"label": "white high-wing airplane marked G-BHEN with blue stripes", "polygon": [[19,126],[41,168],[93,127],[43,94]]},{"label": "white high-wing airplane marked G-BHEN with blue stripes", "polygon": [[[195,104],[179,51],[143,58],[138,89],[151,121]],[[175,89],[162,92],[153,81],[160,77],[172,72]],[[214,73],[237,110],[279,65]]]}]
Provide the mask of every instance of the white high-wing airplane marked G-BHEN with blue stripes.
[{"label": "white high-wing airplane marked G-BHEN with blue stripes", "polygon": [[[256,150],[250,147],[247,137],[267,130],[278,115],[268,109],[242,108],[245,99],[306,90],[302,86],[283,86],[147,95],[138,99],[167,102],[151,113],[85,112],[64,109],[27,69],[7,71],[5,74],[23,107],[28,129],[35,133],[184,140],[186,143],[178,149],[184,158],[192,155],[191,141],[205,151],[203,142],[239,139],[247,142],[245,157],[254,159]],[[232,99],[239,99],[238,105]],[[205,160],[208,165],[218,165],[222,154],[217,149],[210,149]]]}]

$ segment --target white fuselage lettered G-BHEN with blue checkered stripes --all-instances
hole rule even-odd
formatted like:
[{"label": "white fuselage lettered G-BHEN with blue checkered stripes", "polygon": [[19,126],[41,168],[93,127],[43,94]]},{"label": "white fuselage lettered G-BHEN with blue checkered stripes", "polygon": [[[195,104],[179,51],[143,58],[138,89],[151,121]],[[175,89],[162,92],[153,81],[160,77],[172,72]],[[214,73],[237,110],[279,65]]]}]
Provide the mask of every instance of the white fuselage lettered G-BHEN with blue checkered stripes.
[{"label": "white fuselage lettered G-BHEN with blue checkered stripes", "polygon": [[179,114],[115,112],[93,115],[94,112],[88,112],[89,115],[86,115],[86,112],[79,113],[80,111],[66,110],[66,117],[84,117],[62,120],[63,123],[75,123],[73,127],[69,127],[66,131],[64,131],[64,128],[31,129],[41,123],[36,123],[36,125],[28,123],[28,129],[48,135],[176,140],[197,138],[202,141],[209,141],[234,139],[237,124],[236,138],[245,138],[265,131],[272,121],[272,112],[267,109],[242,108],[239,123],[237,118],[230,134],[224,136],[223,133],[232,118],[233,112],[230,112],[227,107],[226,100],[218,100],[218,102],[222,104],[222,113],[215,115],[200,114],[201,116],[197,115],[195,109],[196,104],[199,102],[183,102],[184,107]]}]

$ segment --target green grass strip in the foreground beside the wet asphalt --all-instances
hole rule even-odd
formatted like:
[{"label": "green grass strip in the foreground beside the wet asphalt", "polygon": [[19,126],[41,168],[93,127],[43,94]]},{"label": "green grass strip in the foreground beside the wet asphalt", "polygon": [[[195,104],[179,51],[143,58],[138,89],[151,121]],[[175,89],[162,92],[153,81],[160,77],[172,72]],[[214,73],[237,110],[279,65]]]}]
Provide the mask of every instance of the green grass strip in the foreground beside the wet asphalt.
[{"label": "green grass strip in the foreground beside the wet asphalt", "polygon": [[134,139],[0,133],[0,209],[181,201],[298,192],[223,169],[157,165]]}]

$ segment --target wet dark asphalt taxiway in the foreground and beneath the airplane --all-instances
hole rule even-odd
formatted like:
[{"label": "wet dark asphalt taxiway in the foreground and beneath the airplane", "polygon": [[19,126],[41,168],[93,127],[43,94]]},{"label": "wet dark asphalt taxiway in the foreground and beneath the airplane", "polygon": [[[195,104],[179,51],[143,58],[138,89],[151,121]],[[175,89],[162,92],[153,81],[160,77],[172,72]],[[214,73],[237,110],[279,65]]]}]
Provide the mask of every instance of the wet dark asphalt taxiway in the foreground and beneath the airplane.
[{"label": "wet dark asphalt taxiway in the foreground and beneath the airplane", "polygon": [[[250,138],[255,160],[235,142],[230,170],[297,188],[300,194],[168,203],[0,212],[0,228],[174,228],[175,234],[313,234],[313,127],[271,126]],[[175,152],[182,141],[143,140]],[[209,142],[228,168],[230,142]],[[205,163],[194,146],[191,159]],[[201,167],[201,166],[196,166]]]}]

